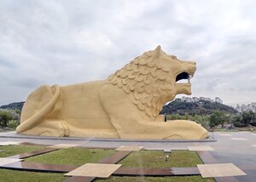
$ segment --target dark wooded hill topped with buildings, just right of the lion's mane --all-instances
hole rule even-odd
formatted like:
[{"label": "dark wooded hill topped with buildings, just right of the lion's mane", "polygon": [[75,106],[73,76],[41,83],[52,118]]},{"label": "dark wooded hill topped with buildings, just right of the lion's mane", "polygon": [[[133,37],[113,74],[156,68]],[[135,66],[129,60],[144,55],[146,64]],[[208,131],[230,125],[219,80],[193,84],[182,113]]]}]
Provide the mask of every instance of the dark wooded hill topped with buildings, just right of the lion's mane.
[{"label": "dark wooded hill topped with buildings, just right of the lion's mane", "polygon": [[213,111],[224,111],[226,113],[234,114],[236,110],[228,105],[219,104],[210,101],[199,102],[184,102],[181,100],[174,100],[168,105],[164,105],[161,114],[178,114],[178,115],[208,115]]}]

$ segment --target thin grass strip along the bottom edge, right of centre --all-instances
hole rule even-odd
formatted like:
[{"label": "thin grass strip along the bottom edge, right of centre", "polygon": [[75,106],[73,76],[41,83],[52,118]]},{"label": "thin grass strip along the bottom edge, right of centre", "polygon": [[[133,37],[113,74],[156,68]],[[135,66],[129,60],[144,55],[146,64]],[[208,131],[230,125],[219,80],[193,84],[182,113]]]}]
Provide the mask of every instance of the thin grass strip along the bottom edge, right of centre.
[{"label": "thin grass strip along the bottom edge, right of centre", "polygon": [[97,182],[141,182],[141,181],[149,181],[149,182],[195,182],[195,181],[203,181],[203,182],[213,182],[215,181],[213,178],[211,179],[203,179],[200,175],[196,176],[183,176],[183,177],[118,177],[118,176],[111,176],[108,179],[96,179]]}]

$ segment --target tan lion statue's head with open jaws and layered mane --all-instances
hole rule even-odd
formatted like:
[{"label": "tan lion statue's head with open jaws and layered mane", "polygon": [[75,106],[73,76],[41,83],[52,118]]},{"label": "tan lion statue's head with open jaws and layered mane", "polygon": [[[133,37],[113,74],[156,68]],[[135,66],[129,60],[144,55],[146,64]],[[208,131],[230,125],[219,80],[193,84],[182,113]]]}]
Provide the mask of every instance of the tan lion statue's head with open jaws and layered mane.
[{"label": "tan lion statue's head with open jaws and layered mane", "polygon": [[[158,46],[131,60],[108,80],[129,94],[131,102],[154,120],[176,94],[191,94],[190,78],[195,69],[195,62],[177,60]],[[177,83],[182,79],[189,82]]]}]

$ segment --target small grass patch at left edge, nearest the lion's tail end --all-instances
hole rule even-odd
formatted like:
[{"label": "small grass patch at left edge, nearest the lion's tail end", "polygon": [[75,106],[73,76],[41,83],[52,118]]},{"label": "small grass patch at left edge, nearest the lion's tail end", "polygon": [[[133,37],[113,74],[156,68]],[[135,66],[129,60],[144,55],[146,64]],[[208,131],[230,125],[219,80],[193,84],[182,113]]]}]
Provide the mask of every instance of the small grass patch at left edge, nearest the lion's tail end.
[{"label": "small grass patch at left edge, nearest the lion's tail end", "polygon": [[22,154],[30,151],[37,151],[43,149],[44,146],[38,145],[7,145],[7,146],[0,146],[0,157],[6,156],[15,156],[17,154]]}]

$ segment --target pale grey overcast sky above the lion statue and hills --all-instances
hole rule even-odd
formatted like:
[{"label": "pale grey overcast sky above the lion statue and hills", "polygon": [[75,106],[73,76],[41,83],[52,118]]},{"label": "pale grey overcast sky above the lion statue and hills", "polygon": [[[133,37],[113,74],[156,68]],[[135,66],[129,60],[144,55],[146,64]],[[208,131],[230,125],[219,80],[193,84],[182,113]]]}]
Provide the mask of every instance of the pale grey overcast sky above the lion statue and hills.
[{"label": "pale grey overcast sky above the lion statue and hills", "polygon": [[192,96],[256,101],[251,0],[0,0],[0,105],[104,79],[143,52],[195,60]]}]

